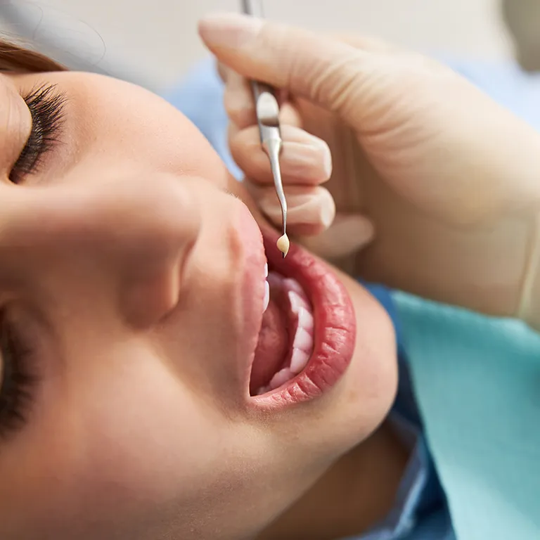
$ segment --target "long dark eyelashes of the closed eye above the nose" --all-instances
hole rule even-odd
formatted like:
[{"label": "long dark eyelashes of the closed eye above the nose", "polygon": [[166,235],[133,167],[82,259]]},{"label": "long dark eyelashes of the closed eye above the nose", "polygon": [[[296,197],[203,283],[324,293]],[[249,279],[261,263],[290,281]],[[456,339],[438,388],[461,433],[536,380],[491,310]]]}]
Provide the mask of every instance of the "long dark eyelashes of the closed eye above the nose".
[{"label": "long dark eyelashes of the closed eye above the nose", "polygon": [[58,143],[63,127],[65,95],[54,84],[44,84],[23,96],[32,115],[32,129],[9,179],[20,184],[25,176],[36,174],[43,158]]}]

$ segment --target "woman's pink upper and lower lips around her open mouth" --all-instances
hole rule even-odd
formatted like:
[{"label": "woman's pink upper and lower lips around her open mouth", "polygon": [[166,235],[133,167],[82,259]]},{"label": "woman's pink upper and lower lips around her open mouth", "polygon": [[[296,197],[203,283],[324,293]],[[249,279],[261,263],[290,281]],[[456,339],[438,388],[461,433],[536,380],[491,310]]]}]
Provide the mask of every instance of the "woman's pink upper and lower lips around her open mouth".
[{"label": "woman's pink upper and lower lips around her open mouth", "polygon": [[[245,318],[249,319],[245,330],[248,331],[246,337],[251,347],[249,366],[244,373],[245,392],[255,406],[271,409],[316,399],[340,380],[352,360],[356,340],[356,318],[352,302],[338,276],[326,264],[297,245],[291,245],[288,256],[282,259],[281,252],[276,248],[278,235],[274,231],[264,231],[261,241],[259,227],[251,215],[249,218],[252,223],[248,226],[243,219],[245,227],[242,232],[244,238],[250,236],[250,248],[257,255],[245,267],[245,284],[249,285],[243,290],[243,304],[246,309]],[[262,323],[263,243],[270,269],[298,281],[313,304],[314,352],[304,371],[288,383],[274,392],[250,396],[251,364]]]}]

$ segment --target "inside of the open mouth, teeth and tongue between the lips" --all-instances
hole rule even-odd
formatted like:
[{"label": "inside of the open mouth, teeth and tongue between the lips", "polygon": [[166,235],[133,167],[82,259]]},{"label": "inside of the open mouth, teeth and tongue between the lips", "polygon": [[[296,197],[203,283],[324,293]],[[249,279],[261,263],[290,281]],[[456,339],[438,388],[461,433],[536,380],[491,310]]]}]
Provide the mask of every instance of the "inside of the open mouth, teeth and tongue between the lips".
[{"label": "inside of the open mouth, teeth and tongue between the lips", "polygon": [[314,350],[313,307],[293,278],[265,268],[264,314],[250,377],[250,394],[285,385],[307,366]]}]

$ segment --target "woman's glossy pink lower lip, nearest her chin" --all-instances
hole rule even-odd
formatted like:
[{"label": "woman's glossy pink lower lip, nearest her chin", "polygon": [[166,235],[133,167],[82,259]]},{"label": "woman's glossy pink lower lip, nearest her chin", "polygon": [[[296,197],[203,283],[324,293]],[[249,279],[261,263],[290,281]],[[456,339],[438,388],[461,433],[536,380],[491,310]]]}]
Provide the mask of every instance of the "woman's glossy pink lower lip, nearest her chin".
[{"label": "woman's glossy pink lower lip, nearest her chin", "polygon": [[250,399],[257,406],[283,407],[321,397],[347,371],[356,341],[356,317],[344,285],[328,266],[297,245],[283,260],[276,248],[278,236],[264,233],[269,265],[294,278],[314,309],[314,350],[307,366],[295,378],[272,392]]}]

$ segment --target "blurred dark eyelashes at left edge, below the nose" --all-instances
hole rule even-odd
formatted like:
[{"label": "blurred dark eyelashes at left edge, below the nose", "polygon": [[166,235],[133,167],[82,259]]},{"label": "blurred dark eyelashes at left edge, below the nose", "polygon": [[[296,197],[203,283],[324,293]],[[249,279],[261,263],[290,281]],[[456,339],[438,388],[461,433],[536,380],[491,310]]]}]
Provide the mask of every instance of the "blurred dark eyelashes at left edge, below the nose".
[{"label": "blurred dark eyelashes at left edge, below the nose", "polygon": [[0,349],[0,439],[6,439],[25,425],[25,415],[32,404],[34,385],[37,384],[37,378],[30,373],[29,367],[33,350],[20,339],[6,314],[0,316]]}]

